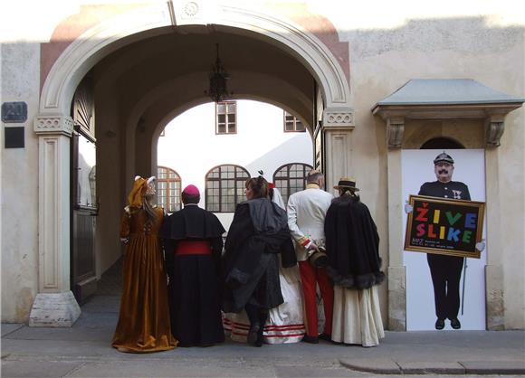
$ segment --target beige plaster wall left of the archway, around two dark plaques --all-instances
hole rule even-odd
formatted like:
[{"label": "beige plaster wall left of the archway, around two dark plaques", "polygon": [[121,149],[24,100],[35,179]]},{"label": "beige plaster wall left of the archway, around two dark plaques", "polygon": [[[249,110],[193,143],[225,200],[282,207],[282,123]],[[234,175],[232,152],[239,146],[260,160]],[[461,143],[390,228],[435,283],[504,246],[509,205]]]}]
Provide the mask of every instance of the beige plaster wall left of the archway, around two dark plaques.
[{"label": "beige plaster wall left of the archway, around two dark plaques", "polygon": [[[1,123],[0,146],[2,321],[23,322],[38,292],[38,137],[33,117],[38,110],[40,47],[19,42],[0,48],[0,99],[24,101],[28,113],[24,123]],[[24,127],[24,148],[4,147],[7,127]]]}]

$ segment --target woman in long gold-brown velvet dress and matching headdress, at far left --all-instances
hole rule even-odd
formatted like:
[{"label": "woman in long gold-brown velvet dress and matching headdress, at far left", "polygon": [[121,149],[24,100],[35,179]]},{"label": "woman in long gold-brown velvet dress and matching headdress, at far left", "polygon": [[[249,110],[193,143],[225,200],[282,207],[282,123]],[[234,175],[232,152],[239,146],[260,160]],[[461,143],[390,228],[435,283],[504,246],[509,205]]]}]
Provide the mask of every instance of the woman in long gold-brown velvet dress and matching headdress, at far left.
[{"label": "woman in long gold-brown velvet dress and matching headdress, at far left", "polygon": [[120,238],[127,248],[119,324],[111,343],[120,352],[160,352],[177,346],[171,335],[167,275],[158,239],[164,211],[150,203],[154,194],[155,177],[135,177],[120,223]]}]

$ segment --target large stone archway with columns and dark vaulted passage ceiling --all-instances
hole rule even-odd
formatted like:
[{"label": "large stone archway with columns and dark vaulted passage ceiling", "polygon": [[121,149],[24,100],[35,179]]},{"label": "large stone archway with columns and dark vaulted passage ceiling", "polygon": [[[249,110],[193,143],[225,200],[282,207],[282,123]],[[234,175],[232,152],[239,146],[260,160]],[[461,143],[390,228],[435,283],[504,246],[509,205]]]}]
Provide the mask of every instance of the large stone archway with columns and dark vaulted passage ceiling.
[{"label": "large stone archway with columns and dark vaulted passage ceiling", "polygon": [[95,243],[100,273],[112,262],[101,250],[120,248],[115,235],[127,178],[152,172],[159,130],[205,99],[215,43],[234,98],[264,99],[309,120],[315,165],[324,167],[328,184],[347,172],[354,126],[348,74],[325,43],[330,39],[323,41],[279,14],[191,2],[114,14],[65,48],[43,82],[34,120],[42,206],[39,294],[30,324],[71,326],[80,314],[70,290],[70,108],[86,73],[95,77],[97,182],[103,183]]}]

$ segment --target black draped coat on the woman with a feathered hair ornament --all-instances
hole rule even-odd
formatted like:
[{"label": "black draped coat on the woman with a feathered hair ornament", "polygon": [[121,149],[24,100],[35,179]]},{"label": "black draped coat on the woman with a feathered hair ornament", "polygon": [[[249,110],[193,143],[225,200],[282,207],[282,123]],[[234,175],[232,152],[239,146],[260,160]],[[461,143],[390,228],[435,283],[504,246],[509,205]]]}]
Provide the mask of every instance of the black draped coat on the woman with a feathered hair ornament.
[{"label": "black draped coat on the woman with a feathered hair ornament", "polygon": [[267,198],[239,203],[221,264],[225,312],[282,304],[278,253],[284,268],[297,263],[284,210]]}]

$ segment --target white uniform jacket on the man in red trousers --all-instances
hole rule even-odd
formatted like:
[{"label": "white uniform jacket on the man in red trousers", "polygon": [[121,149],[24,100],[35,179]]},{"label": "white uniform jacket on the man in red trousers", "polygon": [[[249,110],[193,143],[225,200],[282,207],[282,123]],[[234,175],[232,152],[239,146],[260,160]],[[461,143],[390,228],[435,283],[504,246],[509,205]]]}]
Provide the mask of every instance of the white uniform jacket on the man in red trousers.
[{"label": "white uniform jacket on the man in red trousers", "polygon": [[288,199],[288,227],[296,241],[297,260],[307,260],[304,246],[309,241],[324,242],[324,219],[333,198],[317,184],[308,184],[305,190],[291,194]]}]

